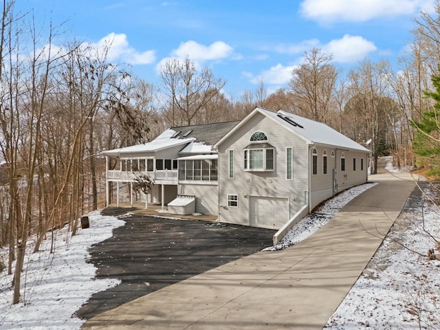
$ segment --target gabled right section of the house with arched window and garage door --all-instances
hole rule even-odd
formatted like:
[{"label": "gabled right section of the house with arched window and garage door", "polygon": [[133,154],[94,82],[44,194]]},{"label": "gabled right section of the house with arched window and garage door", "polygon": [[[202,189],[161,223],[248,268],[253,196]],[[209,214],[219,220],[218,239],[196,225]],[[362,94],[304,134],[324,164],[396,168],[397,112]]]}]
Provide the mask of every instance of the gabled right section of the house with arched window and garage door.
[{"label": "gabled right section of the house with arched window and garage door", "polygon": [[221,222],[285,234],[325,199],[368,181],[368,149],[284,111],[257,107],[214,148]]}]

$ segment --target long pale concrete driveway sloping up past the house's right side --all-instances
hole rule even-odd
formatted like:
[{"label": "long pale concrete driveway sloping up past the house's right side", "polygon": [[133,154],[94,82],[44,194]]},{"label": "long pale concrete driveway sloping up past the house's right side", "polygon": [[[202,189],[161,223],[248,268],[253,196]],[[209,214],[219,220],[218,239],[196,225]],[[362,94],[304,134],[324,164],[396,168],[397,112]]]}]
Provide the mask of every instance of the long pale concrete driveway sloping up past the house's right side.
[{"label": "long pale concrete driveway sloping up past the house's right side", "polygon": [[322,329],[415,188],[409,175],[347,204],[305,241],[258,252],[88,320],[83,329]]}]

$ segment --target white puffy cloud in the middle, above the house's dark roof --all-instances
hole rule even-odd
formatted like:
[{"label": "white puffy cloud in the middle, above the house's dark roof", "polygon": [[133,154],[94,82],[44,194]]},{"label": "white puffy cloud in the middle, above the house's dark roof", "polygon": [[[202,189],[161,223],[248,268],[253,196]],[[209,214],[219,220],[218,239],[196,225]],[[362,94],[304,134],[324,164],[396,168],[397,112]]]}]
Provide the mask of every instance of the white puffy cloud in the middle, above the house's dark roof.
[{"label": "white puffy cloud in the middle, above the house's dark roof", "polygon": [[227,58],[232,55],[234,49],[223,41],[216,41],[209,46],[201,45],[195,41],[186,41],[181,43],[177,50],[173,50],[172,56],[178,58],[189,58],[192,61],[208,61]]}]

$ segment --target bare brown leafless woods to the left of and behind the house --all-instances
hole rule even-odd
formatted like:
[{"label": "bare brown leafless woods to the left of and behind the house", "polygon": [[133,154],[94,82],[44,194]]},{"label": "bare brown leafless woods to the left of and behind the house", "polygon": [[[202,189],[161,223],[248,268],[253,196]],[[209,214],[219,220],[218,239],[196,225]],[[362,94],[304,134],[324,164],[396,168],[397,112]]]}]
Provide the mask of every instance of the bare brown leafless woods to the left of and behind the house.
[{"label": "bare brown leafless woods to the left of and behind the house", "polygon": [[233,100],[221,92],[227,82],[190,58],[167,61],[162,83],[153,85],[111,63],[110,42],[54,45],[62,25],[43,36],[31,14],[3,0],[0,247],[9,249],[4,266],[15,274],[13,303],[29,236],[36,235],[37,251],[47,232],[67,223],[75,234],[82,214],[104,206],[99,152],[151,141],[168,126],[240,120],[259,105],[325,122],[364,144],[372,173],[379,155],[392,154],[396,166],[432,164],[431,154],[415,157],[413,142],[415,123],[434,111],[434,96],[425,92],[435,91],[431,79],[439,76],[440,5],[416,22],[398,71],[366,59],[343,72],[331,54],[311,49],[285,89],[268,95],[261,82]]}]

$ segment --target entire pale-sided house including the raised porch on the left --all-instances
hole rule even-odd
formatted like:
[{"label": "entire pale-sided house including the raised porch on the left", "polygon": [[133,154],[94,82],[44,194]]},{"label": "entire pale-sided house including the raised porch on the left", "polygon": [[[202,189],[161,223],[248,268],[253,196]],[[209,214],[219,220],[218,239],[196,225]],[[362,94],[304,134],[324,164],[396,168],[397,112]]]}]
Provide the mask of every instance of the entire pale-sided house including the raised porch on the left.
[{"label": "entire pale-sided house including the raised porch on the left", "polygon": [[325,124],[256,107],[240,122],[174,127],[104,151],[121,163],[107,167],[107,204],[110,181],[132,184],[143,173],[155,181],[153,202],[174,210],[192,198],[195,212],[281,237],[325,199],[368,181],[369,153]]}]

